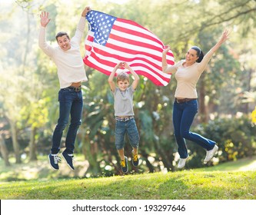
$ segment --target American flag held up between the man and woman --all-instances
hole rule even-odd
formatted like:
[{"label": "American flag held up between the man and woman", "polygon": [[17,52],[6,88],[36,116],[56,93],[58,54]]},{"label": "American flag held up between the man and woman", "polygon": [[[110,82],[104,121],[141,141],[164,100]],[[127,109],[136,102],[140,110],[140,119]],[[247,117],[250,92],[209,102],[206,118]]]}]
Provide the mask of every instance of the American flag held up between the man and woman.
[{"label": "American flag held up between the man and woman", "polygon": [[[161,67],[165,45],[151,31],[131,20],[94,10],[88,12],[86,19],[89,23],[85,38],[86,65],[110,75],[118,62],[126,61],[137,74],[154,84],[168,84],[171,74],[163,73]],[[168,51],[167,61],[175,64],[171,51]]]}]

